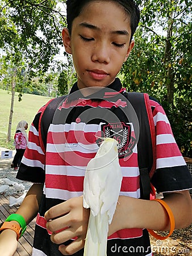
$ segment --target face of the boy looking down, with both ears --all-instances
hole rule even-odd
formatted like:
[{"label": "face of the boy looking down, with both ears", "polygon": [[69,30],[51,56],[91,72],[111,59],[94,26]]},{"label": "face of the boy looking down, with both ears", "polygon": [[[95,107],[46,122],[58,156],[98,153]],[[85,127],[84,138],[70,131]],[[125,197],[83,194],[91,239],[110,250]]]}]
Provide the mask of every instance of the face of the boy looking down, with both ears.
[{"label": "face of the boy looking down, with both ears", "polygon": [[73,55],[78,88],[106,87],[115,80],[133,48],[123,9],[111,1],[91,1],[73,20],[72,34],[62,31],[65,50]]}]

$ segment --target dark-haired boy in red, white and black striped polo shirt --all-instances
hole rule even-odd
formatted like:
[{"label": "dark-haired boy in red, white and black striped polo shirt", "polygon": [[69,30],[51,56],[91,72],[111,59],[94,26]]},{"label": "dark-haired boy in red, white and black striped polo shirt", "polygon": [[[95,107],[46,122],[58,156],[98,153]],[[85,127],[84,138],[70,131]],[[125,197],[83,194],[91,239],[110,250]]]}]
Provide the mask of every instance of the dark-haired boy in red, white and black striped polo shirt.
[{"label": "dark-haired boy in red, white and black striped polo shirt", "polygon": [[[27,224],[39,211],[33,255],[83,255],[89,220],[89,209],[82,207],[86,164],[98,150],[97,138],[106,134],[109,127],[109,132],[117,135],[120,129],[115,130],[115,125],[121,125],[125,140],[128,129],[133,133],[133,127],[119,110],[120,106],[125,107],[124,102],[116,100],[124,92],[116,75],[134,45],[138,7],[132,0],[68,0],[66,5],[68,29],[64,28],[62,38],[66,52],[73,55],[78,80],[53,118],[46,150],[39,139],[41,110],[36,115],[17,175],[35,183],[17,211]],[[91,100],[89,89],[95,86],[106,90],[103,94],[101,90],[102,98],[96,92]],[[174,214],[176,228],[184,228],[191,223],[187,191],[192,187],[191,177],[164,111],[155,101],[151,100],[151,106],[157,133],[153,184],[164,192],[163,200]],[[108,111],[115,113],[118,121],[114,122]],[[168,214],[157,201],[139,199],[136,146],[131,155],[119,156],[119,163],[123,181],[109,226],[107,255],[152,255],[147,229],[169,230]],[[0,254],[14,254],[16,244],[16,232],[3,230]]]}]

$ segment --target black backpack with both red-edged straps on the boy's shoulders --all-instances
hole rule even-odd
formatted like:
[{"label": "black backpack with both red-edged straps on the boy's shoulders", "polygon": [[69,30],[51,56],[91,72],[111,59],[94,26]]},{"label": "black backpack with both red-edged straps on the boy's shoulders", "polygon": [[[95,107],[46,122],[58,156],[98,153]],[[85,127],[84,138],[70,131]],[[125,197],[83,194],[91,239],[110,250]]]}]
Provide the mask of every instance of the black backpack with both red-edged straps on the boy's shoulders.
[{"label": "black backpack with both red-edged straps on the boy's shoulders", "polygon": [[[137,143],[137,158],[140,172],[140,198],[149,200],[155,197],[155,188],[151,184],[151,179],[156,170],[156,135],[151,104],[147,93],[131,92],[124,96],[130,101],[139,121],[140,137]],[[42,109],[39,120],[39,138],[44,152],[49,125],[52,123],[55,110],[65,98],[66,96],[53,98]],[[144,148],[147,150],[143,150]]]}]

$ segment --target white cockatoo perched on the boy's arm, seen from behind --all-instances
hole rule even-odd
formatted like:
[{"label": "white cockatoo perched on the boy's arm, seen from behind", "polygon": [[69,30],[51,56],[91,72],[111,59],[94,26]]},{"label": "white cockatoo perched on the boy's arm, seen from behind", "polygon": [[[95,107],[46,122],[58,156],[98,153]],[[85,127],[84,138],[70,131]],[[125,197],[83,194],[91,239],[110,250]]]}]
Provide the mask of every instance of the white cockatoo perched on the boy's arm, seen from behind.
[{"label": "white cockatoo perched on the boy's arm, seen from behind", "polygon": [[84,179],[84,208],[90,208],[84,256],[105,256],[108,225],[114,215],[122,171],[118,159],[118,142],[104,138],[97,154],[87,164]]}]

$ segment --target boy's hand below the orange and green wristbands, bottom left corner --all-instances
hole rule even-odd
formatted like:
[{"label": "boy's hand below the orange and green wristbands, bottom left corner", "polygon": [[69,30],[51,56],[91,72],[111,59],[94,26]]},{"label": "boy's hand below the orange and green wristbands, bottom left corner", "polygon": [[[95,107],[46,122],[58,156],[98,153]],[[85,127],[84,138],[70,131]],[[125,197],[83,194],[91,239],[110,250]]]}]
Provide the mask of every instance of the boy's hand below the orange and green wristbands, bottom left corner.
[{"label": "boy's hand below the orange and green wristbands, bottom left corner", "polygon": [[0,255],[12,256],[16,251],[18,241],[14,230],[5,229],[0,234]]}]

